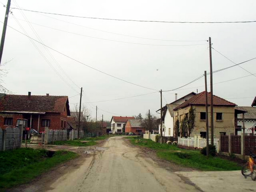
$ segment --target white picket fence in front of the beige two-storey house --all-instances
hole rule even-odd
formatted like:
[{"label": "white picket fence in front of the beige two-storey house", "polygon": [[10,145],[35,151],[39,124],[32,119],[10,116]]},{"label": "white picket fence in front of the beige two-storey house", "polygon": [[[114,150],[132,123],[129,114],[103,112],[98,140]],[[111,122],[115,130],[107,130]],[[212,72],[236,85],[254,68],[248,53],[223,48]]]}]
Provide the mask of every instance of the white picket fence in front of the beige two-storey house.
[{"label": "white picket fence in front of the beige two-storey house", "polygon": [[[209,143],[211,144],[211,139],[209,139]],[[220,151],[220,141],[218,138],[213,139],[213,144],[216,147],[217,153]],[[181,138],[178,137],[178,145],[188,146],[188,147],[194,147],[194,148],[204,148],[206,147],[206,139],[204,138]]]}]

